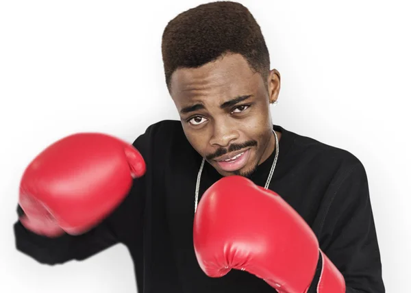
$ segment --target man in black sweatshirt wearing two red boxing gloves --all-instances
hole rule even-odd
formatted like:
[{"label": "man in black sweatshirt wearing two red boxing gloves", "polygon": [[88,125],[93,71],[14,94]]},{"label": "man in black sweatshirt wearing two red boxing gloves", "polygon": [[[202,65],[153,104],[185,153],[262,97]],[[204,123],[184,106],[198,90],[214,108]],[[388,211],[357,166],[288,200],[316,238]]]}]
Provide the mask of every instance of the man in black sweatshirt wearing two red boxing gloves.
[{"label": "man in black sweatshirt wearing two red boxing gloves", "polygon": [[22,179],[17,249],[58,264],[123,243],[145,293],[384,292],[364,166],[272,124],[280,75],[247,8],[179,14],[162,54],[181,121],[136,151],[91,134],[45,150]]}]

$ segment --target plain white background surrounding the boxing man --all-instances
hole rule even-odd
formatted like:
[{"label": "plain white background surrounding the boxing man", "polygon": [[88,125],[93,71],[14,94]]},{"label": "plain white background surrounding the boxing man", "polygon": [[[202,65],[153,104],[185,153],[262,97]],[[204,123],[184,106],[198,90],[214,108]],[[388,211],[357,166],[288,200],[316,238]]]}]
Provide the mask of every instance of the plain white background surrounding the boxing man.
[{"label": "plain white background surrounding the boxing man", "polygon": [[[240,1],[282,74],[273,123],[351,151],[364,164],[387,292],[411,275],[408,1]],[[136,292],[114,246],[84,262],[40,265],[14,249],[18,183],[58,138],[103,131],[132,142],[178,119],[164,84],[168,21],[204,1],[2,1],[0,292]]]}]

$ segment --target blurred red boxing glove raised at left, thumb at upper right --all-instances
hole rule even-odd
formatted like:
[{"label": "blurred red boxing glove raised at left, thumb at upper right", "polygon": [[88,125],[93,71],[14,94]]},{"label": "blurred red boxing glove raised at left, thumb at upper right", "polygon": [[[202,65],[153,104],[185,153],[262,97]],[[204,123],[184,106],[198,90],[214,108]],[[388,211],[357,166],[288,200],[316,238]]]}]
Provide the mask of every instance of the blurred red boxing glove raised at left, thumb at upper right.
[{"label": "blurred red boxing glove raised at left, thumb at upper right", "polygon": [[42,151],[25,169],[21,223],[40,235],[84,233],[127,196],[145,174],[134,146],[101,133],[77,133]]}]

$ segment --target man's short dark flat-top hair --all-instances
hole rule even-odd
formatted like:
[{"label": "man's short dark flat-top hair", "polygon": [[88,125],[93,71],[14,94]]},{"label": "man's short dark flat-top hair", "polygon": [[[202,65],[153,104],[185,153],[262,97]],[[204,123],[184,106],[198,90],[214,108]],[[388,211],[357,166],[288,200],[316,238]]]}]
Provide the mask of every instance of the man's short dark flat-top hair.
[{"label": "man's short dark flat-top hair", "polygon": [[217,1],[178,14],[162,35],[166,84],[177,68],[197,68],[225,53],[239,53],[266,82],[270,56],[260,25],[242,4]]}]

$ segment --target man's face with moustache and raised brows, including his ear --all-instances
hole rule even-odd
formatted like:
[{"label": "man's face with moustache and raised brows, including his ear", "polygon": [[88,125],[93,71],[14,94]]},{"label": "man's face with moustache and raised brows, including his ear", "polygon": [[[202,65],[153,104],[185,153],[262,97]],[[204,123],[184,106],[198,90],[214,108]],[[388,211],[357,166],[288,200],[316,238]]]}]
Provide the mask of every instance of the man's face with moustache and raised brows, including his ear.
[{"label": "man's face with moustache and raised brows, including his ear", "polygon": [[269,104],[279,92],[277,71],[267,84],[240,54],[179,68],[171,77],[188,141],[223,176],[248,177],[274,149]]}]

